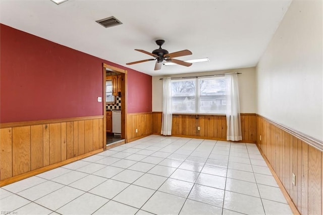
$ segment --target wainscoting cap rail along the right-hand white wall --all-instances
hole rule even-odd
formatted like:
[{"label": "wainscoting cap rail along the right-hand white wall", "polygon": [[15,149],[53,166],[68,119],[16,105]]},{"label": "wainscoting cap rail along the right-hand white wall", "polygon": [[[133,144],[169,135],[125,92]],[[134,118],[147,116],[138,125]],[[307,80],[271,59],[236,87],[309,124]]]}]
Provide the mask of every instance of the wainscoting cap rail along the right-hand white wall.
[{"label": "wainscoting cap rail along the right-hand white wall", "polygon": [[316,149],[318,149],[320,151],[323,151],[323,141],[318,140],[318,139],[316,139],[314,137],[311,137],[311,136],[309,136],[307,134],[304,134],[302,132],[299,132],[297,130],[294,130],[292,128],[289,128],[287,126],[281,125],[281,124],[279,124],[277,122],[274,122],[274,121],[272,121],[272,120],[270,120],[268,118],[265,118],[265,117],[263,117],[261,115],[257,114],[257,116],[265,119],[267,122],[270,122],[270,123],[274,124],[275,126],[279,127],[280,129],[286,131],[287,133],[290,133],[291,135],[294,135],[295,137],[301,139],[302,141],[306,142],[310,146],[313,146],[314,148],[316,148]]}]

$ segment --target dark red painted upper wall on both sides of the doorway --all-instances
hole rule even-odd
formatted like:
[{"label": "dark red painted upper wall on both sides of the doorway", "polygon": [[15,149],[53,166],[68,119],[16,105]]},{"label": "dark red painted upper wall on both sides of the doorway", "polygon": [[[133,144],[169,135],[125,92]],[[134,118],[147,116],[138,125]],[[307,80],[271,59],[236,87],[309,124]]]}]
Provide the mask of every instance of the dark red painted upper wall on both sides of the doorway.
[{"label": "dark red painted upper wall on both sides of the doorway", "polygon": [[[102,96],[102,63],[118,65],[6,25],[0,27],[1,123],[103,114],[102,103],[97,102]],[[150,88],[149,98],[128,90],[128,100],[137,98],[135,104],[128,102],[128,112],[151,111],[151,76],[121,68],[128,70],[129,88],[142,87],[138,83]]]}]

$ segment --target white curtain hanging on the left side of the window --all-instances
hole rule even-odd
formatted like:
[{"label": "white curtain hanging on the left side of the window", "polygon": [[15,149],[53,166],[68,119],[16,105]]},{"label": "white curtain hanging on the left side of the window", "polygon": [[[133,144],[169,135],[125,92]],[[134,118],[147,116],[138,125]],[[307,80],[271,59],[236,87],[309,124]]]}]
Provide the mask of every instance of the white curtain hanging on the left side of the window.
[{"label": "white curtain hanging on the left side of the window", "polygon": [[163,117],[161,119],[161,134],[172,135],[172,88],[171,78],[163,80]]}]

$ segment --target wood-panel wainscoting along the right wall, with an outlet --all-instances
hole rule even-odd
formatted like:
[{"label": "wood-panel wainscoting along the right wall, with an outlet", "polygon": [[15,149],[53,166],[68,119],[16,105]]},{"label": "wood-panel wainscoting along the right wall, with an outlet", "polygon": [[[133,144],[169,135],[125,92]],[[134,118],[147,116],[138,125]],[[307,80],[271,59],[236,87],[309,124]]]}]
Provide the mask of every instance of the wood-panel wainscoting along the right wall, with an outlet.
[{"label": "wood-panel wainscoting along the right wall, with an outlet", "polygon": [[[257,116],[257,145],[301,214],[323,213],[323,144]],[[261,139],[260,139],[261,135]],[[313,146],[321,146],[315,148]],[[292,174],[296,176],[295,186]]]}]

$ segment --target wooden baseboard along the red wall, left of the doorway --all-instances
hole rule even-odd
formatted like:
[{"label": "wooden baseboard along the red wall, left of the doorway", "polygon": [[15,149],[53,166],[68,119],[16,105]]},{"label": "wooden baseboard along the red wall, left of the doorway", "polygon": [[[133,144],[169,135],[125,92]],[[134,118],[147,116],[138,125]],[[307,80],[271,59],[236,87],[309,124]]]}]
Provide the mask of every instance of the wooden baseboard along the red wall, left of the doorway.
[{"label": "wooden baseboard along the red wall, left of the doorway", "polygon": [[72,162],[76,162],[77,160],[83,159],[83,158],[91,156],[93,154],[97,154],[97,153],[102,152],[102,151],[103,151],[103,148],[97,149],[95,151],[91,151],[91,152],[88,152],[86,154],[82,154],[82,155],[72,157],[72,158],[67,159],[67,160],[63,160],[62,162],[59,162],[59,163],[56,163],[56,164],[52,164],[52,165],[42,167],[42,168],[39,168],[39,169],[36,169],[36,170],[32,170],[30,172],[23,173],[23,174],[20,174],[20,175],[17,175],[17,176],[8,178],[8,179],[4,179],[4,180],[0,181],[0,187],[8,185],[8,184],[11,184],[11,183],[14,183],[14,182],[17,182],[17,181],[20,181],[20,180],[23,180],[23,179],[26,179],[26,178],[29,178],[31,176],[38,175],[38,174],[46,172],[48,170],[52,170],[52,169],[55,169],[55,168],[58,168],[58,167],[62,167],[64,165],[70,164]]}]

